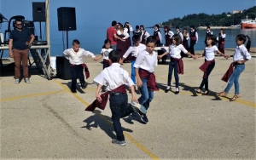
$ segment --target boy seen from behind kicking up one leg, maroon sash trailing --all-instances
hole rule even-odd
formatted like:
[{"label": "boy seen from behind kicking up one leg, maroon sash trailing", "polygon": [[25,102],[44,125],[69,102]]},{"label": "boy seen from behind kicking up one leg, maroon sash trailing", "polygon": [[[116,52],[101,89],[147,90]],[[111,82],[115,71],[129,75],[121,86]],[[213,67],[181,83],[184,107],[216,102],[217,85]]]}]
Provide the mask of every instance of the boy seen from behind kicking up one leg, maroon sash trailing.
[{"label": "boy seen from behind kicking up one leg, maroon sash trailing", "polygon": [[[100,103],[107,103],[108,94],[110,94],[109,105],[112,112],[113,129],[116,133],[117,139],[113,139],[112,143],[119,146],[125,146],[125,136],[123,134],[123,129],[120,123],[120,118],[126,117],[131,114],[131,112],[141,112],[141,114],[146,113],[146,109],[141,105],[131,105],[128,106],[128,96],[125,90],[125,84],[131,87],[131,102],[137,102],[136,94],[134,91],[134,83],[129,77],[129,73],[121,68],[119,64],[120,54],[119,51],[113,50],[108,55],[111,61],[111,66],[105,68],[97,77],[94,78],[94,83],[98,85],[96,89],[96,99]],[[107,94],[100,95],[100,89],[102,85],[107,82]],[[106,100],[107,99],[107,100]],[[104,101],[105,100],[105,101]],[[92,104],[93,105],[93,104]],[[98,105],[97,105],[98,106]],[[93,111],[95,109],[88,106],[86,111]],[[105,107],[105,106],[103,106]],[[90,108],[90,109],[89,109]],[[92,110],[91,110],[92,109]]]}]

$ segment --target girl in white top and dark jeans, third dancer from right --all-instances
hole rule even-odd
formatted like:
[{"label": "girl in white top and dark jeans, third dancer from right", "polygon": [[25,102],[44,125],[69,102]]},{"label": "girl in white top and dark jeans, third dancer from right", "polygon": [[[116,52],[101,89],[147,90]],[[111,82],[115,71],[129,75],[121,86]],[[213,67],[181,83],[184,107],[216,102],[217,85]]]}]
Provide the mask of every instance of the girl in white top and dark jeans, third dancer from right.
[{"label": "girl in white top and dark jeans, third dancer from right", "polygon": [[176,91],[175,94],[179,93],[178,88],[178,74],[183,74],[183,60],[181,58],[181,51],[185,54],[189,54],[191,57],[196,59],[196,57],[193,54],[190,54],[181,44],[181,38],[179,35],[175,35],[172,37],[172,45],[170,45],[169,49],[166,53],[158,55],[158,59],[162,58],[166,54],[171,55],[171,61],[169,64],[169,74],[168,74],[168,81],[167,81],[167,88],[165,92],[167,93],[169,90],[171,90],[171,81],[172,81],[172,71],[174,70],[174,77],[175,77],[175,86]]}]

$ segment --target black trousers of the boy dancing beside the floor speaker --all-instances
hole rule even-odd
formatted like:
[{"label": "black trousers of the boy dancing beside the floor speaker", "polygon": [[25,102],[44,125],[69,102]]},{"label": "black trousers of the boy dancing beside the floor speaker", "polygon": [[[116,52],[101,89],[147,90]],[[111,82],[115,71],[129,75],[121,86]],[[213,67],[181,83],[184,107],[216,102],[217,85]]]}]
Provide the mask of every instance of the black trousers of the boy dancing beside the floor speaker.
[{"label": "black trousers of the boy dancing beside the floor speaker", "polygon": [[82,65],[70,66],[71,71],[71,89],[76,89],[77,79],[84,84],[84,67]]}]

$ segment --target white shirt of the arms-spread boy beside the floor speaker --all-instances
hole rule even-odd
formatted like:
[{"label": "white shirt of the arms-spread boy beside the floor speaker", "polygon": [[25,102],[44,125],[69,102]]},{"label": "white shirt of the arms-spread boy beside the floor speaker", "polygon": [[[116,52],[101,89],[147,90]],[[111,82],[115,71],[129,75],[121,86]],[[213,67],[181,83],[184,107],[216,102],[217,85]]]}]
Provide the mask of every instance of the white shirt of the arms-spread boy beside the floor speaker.
[{"label": "white shirt of the arms-spread boy beside the floor speaker", "polygon": [[66,49],[63,51],[63,54],[67,60],[69,60],[69,63],[73,65],[83,64],[83,56],[91,56],[91,58],[96,57],[93,53],[84,49],[79,49],[78,52],[75,52],[73,49]]}]

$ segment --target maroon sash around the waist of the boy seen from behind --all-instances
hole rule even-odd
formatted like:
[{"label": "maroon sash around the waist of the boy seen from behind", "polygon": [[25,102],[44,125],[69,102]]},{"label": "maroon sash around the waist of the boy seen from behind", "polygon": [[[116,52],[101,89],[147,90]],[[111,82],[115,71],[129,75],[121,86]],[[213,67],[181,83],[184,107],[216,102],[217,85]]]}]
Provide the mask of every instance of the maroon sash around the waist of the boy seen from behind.
[{"label": "maroon sash around the waist of the boy seen from behind", "polygon": [[108,94],[111,94],[112,92],[119,92],[119,93],[126,94],[125,84],[123,84],[123,85],[119,86],[118,88],[115,88],[111,91],[101,94],[102,101],[99,102],[98,100],[94,100],[90,104],[90,106],[86,107],[85,111],[94,111],[96,109],[96,107],[104,110],[107,105],[107,102],[108,102]]}]

